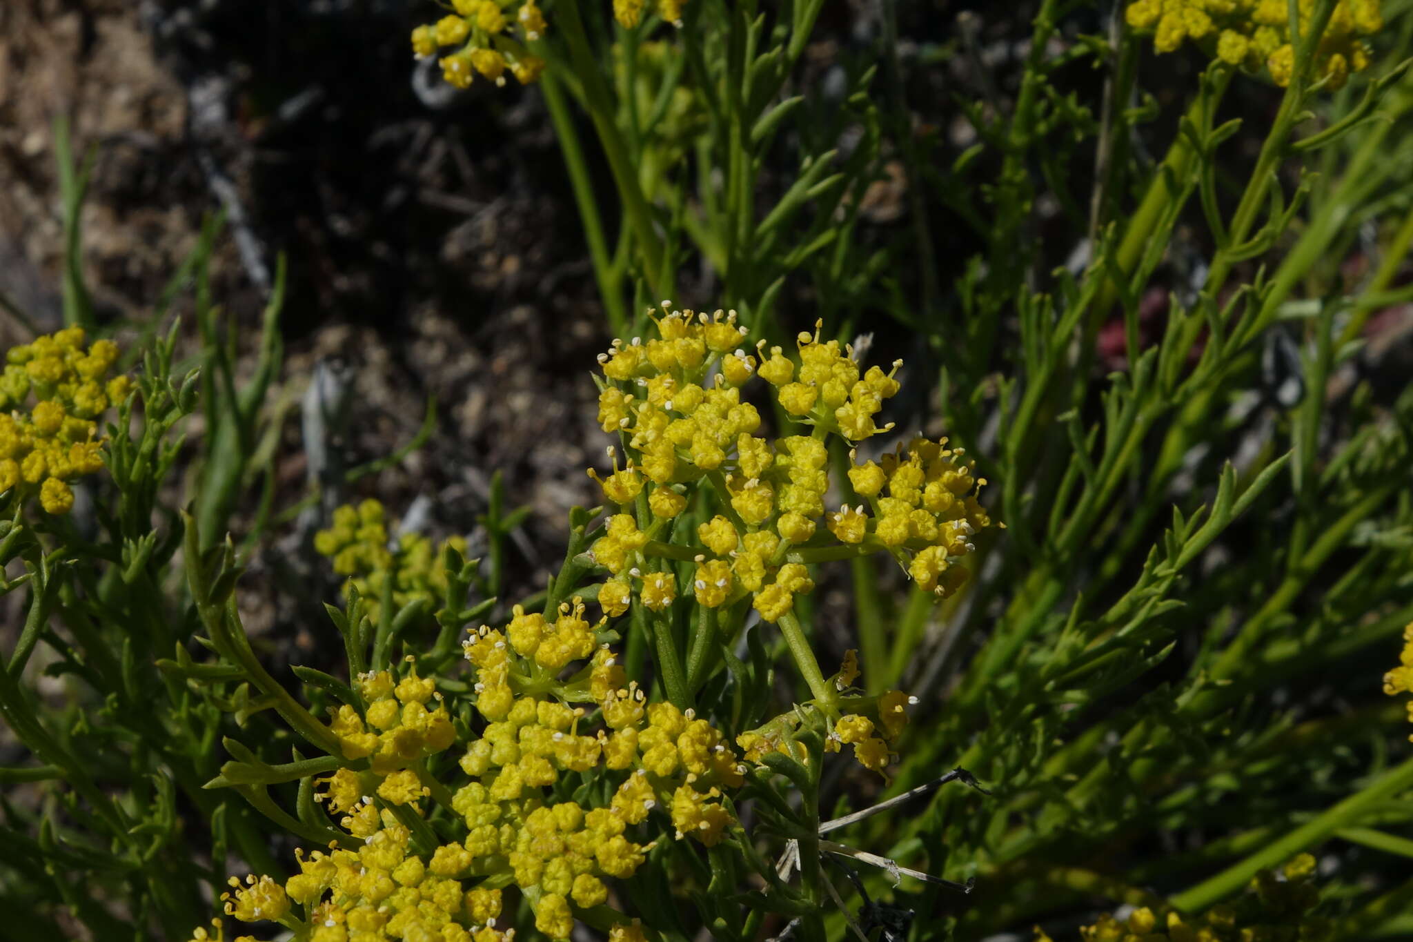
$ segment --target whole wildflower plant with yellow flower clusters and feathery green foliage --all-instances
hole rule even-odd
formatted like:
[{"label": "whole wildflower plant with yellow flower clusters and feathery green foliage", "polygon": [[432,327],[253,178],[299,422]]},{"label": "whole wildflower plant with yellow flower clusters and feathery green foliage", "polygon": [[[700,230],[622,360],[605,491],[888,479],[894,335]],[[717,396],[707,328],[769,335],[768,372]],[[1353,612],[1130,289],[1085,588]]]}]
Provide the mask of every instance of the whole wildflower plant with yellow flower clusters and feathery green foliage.
[{"label": "whole wildflower plant with yellow flower clusters and feathery green foliage", "polygon": [[[1406,929],[1413,388],[1372,328],[1410,298],[1409,4],[1089,35],[1039,0],[999,88],[966,18],[904,61],[896,4],[821,79],[822,8],[458,0],[413,34],[544,96],[619,338],[584,364],[596,506],[527,596],[499,479],[489,572],[343,504],[301,531],[339,604],[290,665],[239,589],[343,494],[274,506],[278,292],[236,370],[213,226],[167,295],[195,280],[194,338],[103,336],[66,267],[68,326],[0,378],[25,929]],[[1161,72],[1181,114],[1154,52],[1197,69]],[[914,90],[941,61],[957,112]],[[657,302],[691,294],[725,311]]]}]

